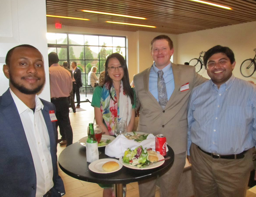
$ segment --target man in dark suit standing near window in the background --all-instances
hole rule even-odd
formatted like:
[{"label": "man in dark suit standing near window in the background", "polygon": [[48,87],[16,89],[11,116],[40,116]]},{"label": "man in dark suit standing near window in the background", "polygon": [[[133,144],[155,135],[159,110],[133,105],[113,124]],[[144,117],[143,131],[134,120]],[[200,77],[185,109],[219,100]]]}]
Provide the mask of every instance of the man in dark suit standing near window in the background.
[{"label": "man in dark suit standing near window in the background", "polygon": [[77,101],[76,108],[79,108],[80,107],[79,88],[83,86],[82,80],[81,80],[81,71],[77,67],[76,62],[71,62],[71,67],[73,68],[73,78],[72,78],[72,81],[73,81],[73,95],[75,97],[75,94],[76,94],[76,101]]}]

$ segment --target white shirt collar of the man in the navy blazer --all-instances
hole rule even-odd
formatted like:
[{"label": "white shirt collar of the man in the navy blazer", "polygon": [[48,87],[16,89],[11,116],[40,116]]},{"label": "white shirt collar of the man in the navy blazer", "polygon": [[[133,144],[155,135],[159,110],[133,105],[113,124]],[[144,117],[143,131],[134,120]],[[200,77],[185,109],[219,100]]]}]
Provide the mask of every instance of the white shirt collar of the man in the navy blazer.
[{"label": "white shirt collar of the man in the navy blazer", "polygon": [[[24,111],[26,111],[27,109],[31,110],[27,105],[25,105],[25,103],[23,103],[15,94],[14,92],[11,90],[11,88],[9,88],[10,93],[13,97],[13,100],[16,104],[16,107],[18,109],[19,115],[22,114]],[[36,101],[36,109],[35,111],[39,111],[41,109],[43,109],[43,103],[42,101],[39,99],[39,97],[36,95],[35,97],[35,101]]]}]

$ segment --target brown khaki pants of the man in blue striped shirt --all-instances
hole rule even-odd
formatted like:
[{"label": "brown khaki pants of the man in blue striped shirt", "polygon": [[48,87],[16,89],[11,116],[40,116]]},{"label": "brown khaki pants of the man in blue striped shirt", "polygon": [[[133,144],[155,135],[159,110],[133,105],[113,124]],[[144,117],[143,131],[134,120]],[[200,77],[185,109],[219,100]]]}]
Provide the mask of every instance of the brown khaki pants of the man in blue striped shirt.
[{"label": "brown khaki pants of the man in blue striped shirt", "polygon": [[214,159],[192,143],[190,158],[195,197],[245,197],[253,170],[252,149],[242,159]]}]

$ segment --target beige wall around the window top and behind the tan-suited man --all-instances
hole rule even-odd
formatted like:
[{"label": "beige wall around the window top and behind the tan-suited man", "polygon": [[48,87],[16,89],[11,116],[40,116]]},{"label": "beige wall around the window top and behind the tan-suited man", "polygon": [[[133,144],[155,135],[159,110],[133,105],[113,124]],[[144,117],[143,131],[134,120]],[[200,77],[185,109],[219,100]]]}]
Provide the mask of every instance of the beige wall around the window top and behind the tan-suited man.
[{"label": "beige wall around the window top and behind the tan-suited man", "polygon": [[[88,28],[88,27],[76,27],[76,26],[62,26],[62,29],[55,29],[55,25],[47,25],[47,32],[64,32],[64,33],[82,33],[82,34],[101,34],[101,35],[113,35],[113,36],[126,36],[127,45],[127,65],[129,71],[130,82],[133,80],[133,75],[145,70],[151,66],[153,59],[150,54],[150,42],[151,40],[163,33],[146,32],[146,31],[116,31],[112,29],[101,28]],[[174,43],[174,63],[177,59],[177,35],[166,34],[171,37]]]}]

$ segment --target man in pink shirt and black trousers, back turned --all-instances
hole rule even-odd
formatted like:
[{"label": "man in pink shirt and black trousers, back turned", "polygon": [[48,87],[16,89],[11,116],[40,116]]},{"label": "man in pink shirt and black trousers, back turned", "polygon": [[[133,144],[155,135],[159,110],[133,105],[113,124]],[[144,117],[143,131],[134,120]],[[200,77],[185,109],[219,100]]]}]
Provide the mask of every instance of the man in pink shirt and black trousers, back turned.
[{"label": "man in pink shirt and black trousers, back turned", "polygon": [[49,75],[50,75],[50,89],[51,89],[51,102],[56,107],[57,127],[63,131],[65,135],[62,136],[60,145],[73,143],[73,132],[69,119],[69,104],[68,97],[72,91],[72,78],[71,74],[58,62],[59,58],[57,53],[52,52],[48,55],[49,61]]}]

